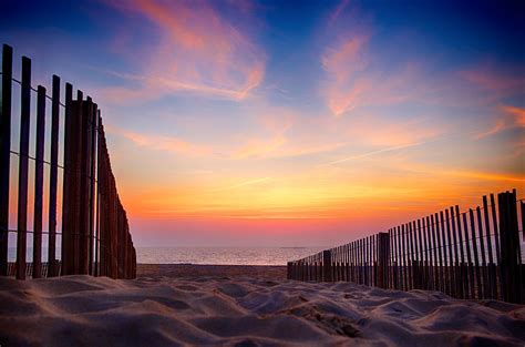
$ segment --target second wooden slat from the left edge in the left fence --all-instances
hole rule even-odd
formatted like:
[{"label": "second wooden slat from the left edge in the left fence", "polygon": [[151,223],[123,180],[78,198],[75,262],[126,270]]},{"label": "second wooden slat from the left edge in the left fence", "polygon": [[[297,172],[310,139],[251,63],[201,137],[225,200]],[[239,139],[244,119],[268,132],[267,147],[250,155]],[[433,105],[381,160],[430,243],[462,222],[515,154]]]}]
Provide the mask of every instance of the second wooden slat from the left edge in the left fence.
[{"label": "second wooden slat from the left edge in the left fence", "polygon": [[25,248],[28,229],[28,161],[29,131],[31,122],[31,60],[27,57],[22,57],[22,88],[20,111],[17,279],[25,279]]}]

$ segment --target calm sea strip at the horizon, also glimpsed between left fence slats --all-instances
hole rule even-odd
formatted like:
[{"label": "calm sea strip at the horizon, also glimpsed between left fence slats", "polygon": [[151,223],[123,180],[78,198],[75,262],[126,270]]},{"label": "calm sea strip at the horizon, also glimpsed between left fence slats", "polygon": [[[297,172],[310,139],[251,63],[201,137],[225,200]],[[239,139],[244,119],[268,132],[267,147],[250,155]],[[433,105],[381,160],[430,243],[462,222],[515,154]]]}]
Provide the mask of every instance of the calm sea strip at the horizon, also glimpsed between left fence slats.
[{"label": "calm sea strip at the horizon, also glimpsed between left fence slats", "polygon": [[[286,265],[327,247],[136,247],[138,264],[208,264],[208,265]],[[32,248],[27,249],[32,262]],[[17,248],[9,247],[8,262],[14,262]],[[56,249],[60,259],[60,248]],[[42,247],[42,262],[48,248]]]}]

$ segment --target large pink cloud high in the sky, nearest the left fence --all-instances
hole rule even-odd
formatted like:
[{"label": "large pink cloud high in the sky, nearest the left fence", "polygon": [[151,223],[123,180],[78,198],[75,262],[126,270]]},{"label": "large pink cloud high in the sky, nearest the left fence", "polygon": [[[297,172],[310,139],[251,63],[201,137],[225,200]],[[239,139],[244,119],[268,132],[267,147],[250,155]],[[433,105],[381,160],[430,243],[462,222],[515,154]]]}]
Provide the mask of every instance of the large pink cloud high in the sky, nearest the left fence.
[{"label": "large pink cloud high in the sky, nearest the left fence", "polygon": [[238,101],[264,79],[264,52],[210,3],[136,0],[112,4],[145,18],[156,37],[143,38],[147,44],[131,50],[143,55],[142,71],[121,74],[134,86],[106,89],[103,95],[110,101],[148,101],[177,92]]}]

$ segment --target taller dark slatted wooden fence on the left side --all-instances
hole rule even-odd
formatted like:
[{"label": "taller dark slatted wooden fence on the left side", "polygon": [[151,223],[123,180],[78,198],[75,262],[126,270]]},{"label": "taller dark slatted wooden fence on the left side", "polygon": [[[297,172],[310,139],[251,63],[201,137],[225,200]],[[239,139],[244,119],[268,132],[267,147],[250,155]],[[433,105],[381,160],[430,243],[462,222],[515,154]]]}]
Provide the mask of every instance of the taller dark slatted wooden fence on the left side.
[{"label": "taller dark slatted wooden fence on the left side", "polygon": [[[3,45],[0,276],[14,275],[18,279],[24,279],[27,276],[37,278],[90,274],[134,278],[135,248],[126,212],[116,191],[97,105],[90,96],[84,99],[81,91],[76,92],[76,100],[73,100],[73,86],[70,83],[65,83],[65,101],[62,103],[61,82],[56,75],[53,75],[51,96],[42,85],[34,90],[31,86],[31,60],[25,57],[22,57],[21,79],[14,79],[12,55],[12,49]],[[13,85],[20,86],[19,115],[12,112],[13,105],[18,106],[13,104]],[[34,109],[31,105],[33,92],[37,93],[35,114],[31,112]],[[48,100],[51,101],[51,113],[47,112]],[[49,118],[51,129],[45,127]],[[31,132],[34,119],[35,131]],[[12,126],[13,120],[20,123],[19,132]],[[45,139],[47,132],[50,134],[49,139]],[[63,143],[59,141],[61,137]],[[14,150],[13,143],[17,142],[19,147]],[[31,143],[34,143],[34,155],[31,155]],[[44,152],[49,153],[49,160]],[[63,155],[63,164],[60,164],[60,154]],[[33,190],[30,190],[30,177],[34,180],[31,184]],[[11,185],[16,180],[18,187]],[[59,188],[62,192],[61,213],[58,208]],[[10,205],[13,193],[17,193],[18,198],[16,217],[14,206]],[[29,206],[30,200],[33,202],[32,206]],[[44,207],[48,212],[48,231],[44,231]],[[28,228],[29,217],[32,220],[32,229]],[[16,224],[10,223],[13,220]],[[59,224],[61,227],[58,227]],[[10,247],[10,239],[14,242],[10,235],[16,236],[14,263],[9,263],[9,252],[14,249]],[[29,247],[28,235],[32,236],[32,245]],[[47,236],[47,242],[43,236]],[[42,243],[47,244],[47,262],[42,262]],[[60,259],[56,245],[60,246]],[[28,263],[27,252],[31,248],[32,263]]]}]

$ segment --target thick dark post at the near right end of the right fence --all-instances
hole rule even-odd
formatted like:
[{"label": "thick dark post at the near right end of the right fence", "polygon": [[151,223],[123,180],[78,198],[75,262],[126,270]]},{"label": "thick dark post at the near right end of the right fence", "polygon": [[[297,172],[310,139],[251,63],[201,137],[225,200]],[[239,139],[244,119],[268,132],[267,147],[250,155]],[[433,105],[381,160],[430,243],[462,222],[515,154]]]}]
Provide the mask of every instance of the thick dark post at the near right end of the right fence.
[{"label": "thick dark post at the near right end of the right fence", "polygon": [[517,226],[516,196],[505,192],[497,195],[500,207],[500,245],[502,247],[501,275],[503,299],[522,302],[522,271],[519,255],[519,231]]}]

